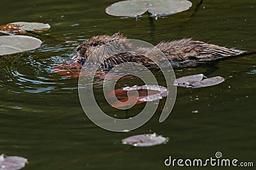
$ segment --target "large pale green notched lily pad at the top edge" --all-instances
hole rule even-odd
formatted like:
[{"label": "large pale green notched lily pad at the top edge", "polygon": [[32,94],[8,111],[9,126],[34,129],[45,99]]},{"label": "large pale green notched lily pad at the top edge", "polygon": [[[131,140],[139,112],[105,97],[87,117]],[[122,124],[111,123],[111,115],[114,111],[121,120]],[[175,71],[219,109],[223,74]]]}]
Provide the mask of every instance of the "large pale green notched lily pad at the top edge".
[{"label": "large pale green notched lily pad at the top edge", "polygon": [[105,11],[116,17],[138,17],[148,11],[156,17],[186,11],[191,6],[187,0],[128,0],[111,4]]}]

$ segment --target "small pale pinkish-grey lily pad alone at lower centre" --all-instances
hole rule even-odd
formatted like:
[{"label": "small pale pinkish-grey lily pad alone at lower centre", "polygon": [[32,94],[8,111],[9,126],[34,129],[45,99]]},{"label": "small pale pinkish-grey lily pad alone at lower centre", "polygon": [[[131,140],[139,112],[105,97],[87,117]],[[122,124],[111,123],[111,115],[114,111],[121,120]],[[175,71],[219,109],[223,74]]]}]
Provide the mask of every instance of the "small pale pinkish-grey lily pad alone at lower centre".
[{"label": "small pale pinkish-grey lily pad alone at lower centre", "polygon": [[168,138],[154,134],[138,134],[122,139],[122,144],[132,145],[136,147],[155,146],[166,143]]}]

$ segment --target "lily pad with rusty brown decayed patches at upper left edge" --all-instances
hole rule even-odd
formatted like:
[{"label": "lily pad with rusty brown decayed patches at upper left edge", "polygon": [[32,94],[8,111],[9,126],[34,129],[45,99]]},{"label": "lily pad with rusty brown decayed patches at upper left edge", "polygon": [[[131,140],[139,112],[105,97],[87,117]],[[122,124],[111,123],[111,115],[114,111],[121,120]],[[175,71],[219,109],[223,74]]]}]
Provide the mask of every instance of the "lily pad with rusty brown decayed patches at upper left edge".
[{"label": "lily pad with rusty brown decayed patches at upper left edge", "polygon": [[42,32],[50,29],[49,24],[39,22],[12,22],[0,25],[0,32],[4,34],[25,34],[26,31]]}]

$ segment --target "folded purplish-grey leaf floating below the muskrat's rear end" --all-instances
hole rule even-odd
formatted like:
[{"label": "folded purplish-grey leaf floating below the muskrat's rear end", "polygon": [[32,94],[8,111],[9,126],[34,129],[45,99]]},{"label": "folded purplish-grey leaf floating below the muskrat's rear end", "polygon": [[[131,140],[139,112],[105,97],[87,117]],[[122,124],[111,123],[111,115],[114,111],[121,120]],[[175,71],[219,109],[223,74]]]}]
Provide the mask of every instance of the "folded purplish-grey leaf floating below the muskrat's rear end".
[{"label": "folded purplish-grey leaf floating below the muskrat's rear end", "polygon": [[181,78],[177,78],[175,80],[174,85],[180,87],[192,87],[192,88],[199,88],[199,87],[208,87],[212,85],[218,85],[225,81],[225,79],[221,76],[216,76],[212,78],[204,78],[204,74],[195,74],[191,76],[184,76]]}]

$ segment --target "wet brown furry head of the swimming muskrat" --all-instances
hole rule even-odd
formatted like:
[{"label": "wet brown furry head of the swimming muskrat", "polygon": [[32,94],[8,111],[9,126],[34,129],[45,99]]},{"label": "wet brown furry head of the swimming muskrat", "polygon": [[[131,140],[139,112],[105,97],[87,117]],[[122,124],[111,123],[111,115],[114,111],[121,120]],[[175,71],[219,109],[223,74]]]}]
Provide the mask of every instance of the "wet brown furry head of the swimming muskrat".
[{"label": "wet brown furry head of the swimming muskrat", "polygon": [[120,39],[125,39],[122,33],[118,32],[113,34],[113,36],[93,36],[92,38],[84,41],[81,45],[77,46],[77,53],[73,60],[76,60],[77,63],[84,64],[86,59],[92,54],[94,50],[97,50],[100,46],[110,43],[111,41],[118,41]]}]

